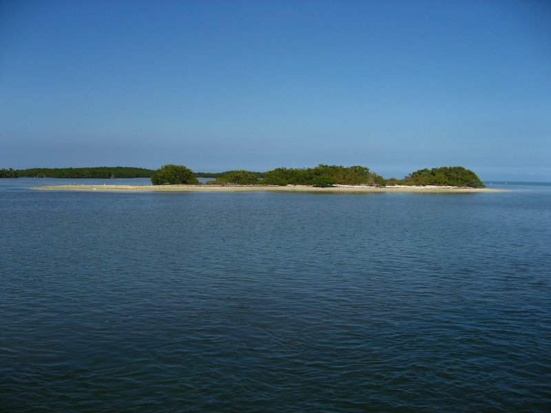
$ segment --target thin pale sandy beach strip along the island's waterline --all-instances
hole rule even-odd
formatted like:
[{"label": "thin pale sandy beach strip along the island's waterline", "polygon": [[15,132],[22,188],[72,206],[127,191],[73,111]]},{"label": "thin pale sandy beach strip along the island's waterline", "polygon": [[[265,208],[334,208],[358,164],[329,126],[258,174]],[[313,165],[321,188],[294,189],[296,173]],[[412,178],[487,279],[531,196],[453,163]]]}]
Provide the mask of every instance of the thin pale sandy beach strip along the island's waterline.
[{"label": "thin pale sandy beach strip along the island's waterline", "polygon": [[315,188],[302,185],[286,187],[269,185],[56,185],[34,187],[32,189],[50,189],[67,191],[275,191],[275,192],[425,192],[425,193],[469,193],[469,192],[503,192],[504,189],[465,188],[465,187],[363,187],[357,185],[335,185],[335,187]]}]

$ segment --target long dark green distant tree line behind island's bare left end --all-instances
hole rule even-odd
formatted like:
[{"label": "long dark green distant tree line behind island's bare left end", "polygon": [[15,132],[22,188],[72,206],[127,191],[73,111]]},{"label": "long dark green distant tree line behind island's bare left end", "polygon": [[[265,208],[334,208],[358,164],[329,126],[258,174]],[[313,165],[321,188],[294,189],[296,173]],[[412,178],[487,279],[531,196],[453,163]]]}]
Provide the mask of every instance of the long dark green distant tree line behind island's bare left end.
[{"label": "long dark green distant tree line behind island's bare left end", "polygon": [[18,169],[19,176],[37,178],[149,178],[153,169],[131,167]]}]

